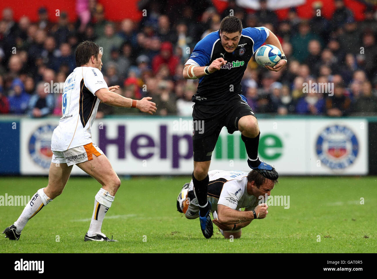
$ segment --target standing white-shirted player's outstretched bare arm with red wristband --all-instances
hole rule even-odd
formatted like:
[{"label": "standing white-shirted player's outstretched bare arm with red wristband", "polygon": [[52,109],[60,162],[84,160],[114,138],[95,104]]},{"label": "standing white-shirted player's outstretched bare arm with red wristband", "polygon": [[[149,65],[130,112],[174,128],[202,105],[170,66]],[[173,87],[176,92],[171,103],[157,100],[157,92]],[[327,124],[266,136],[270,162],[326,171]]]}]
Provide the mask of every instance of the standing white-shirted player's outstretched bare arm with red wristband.
[{"label": "standing white-shirted player's outstretched bare arm with red wristband", "polygon": [[101,102],[105,103],[106,105],[117,106],[121,108],[137,108],[140,111],[147,112],[149,114],[156,112],[156,104],[150,101],[152,100],[152,97],[144,97],[141,100],[132,100],[116,94],[115,92],[112,92],[117,89],[116,86],[110,86],[109,89],[111,91],[107,88],[98,89],[95,92],[95,96],[97,96],[98,99],[100,99]]}]

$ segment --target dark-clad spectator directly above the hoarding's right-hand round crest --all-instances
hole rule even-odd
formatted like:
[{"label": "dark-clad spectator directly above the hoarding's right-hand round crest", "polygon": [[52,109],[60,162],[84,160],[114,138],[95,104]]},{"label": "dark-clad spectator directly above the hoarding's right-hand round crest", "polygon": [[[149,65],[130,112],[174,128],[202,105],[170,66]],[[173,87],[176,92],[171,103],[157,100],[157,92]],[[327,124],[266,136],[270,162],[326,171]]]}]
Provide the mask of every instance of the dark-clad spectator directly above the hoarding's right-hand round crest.
[{"label": "dark-clad spectator directly above the hoarding's right-hand round crest", "polygon": [[342,83],[334,86],[334,96],[326,97],[326,114],[328,116],[341,117],[347,115],[351,106],[351,99],[344,94]]}]

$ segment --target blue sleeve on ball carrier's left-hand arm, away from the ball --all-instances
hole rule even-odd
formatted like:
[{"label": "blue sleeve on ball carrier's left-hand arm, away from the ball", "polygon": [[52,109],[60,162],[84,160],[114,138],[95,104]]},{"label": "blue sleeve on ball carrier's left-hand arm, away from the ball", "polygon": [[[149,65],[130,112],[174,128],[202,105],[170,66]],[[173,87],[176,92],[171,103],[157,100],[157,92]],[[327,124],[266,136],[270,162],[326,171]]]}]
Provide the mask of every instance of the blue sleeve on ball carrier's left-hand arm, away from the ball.
[{"label": "blue sleeve on ball carrier's left-hand arm, away from the ball", "polygon": [[215,32],[212,32],[201,39],[195,45],[195,48],[185,65],[190,64],[200,67],[207,65],[211,60],[213,45],[216,43],[216,41]]}]

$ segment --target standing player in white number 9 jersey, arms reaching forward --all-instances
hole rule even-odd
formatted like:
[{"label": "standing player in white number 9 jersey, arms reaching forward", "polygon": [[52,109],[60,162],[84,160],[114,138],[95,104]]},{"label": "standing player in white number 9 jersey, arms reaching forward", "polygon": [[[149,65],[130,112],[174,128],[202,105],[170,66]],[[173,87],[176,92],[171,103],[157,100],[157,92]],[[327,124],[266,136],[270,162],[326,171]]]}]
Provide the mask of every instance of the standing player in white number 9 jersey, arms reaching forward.
[{"label": "standing player in white number 9 jersey, arms reaching forward", "polygon": [[77,165],[102,185],[95,194],[92,220],[84,240],[116,241],[107,238],[101,232],[101,226],[121,182],[106,155],[93,143],[90,128],[100,102],[123,108],[138,108],[149,114],[156,112],[156,104],[150,101],[151,97],[132,100],[113,92],[119,86],[107,86],[101,73],[101,58],[100,47],[94,42],[84,41],[78,45],[77,68],[64,82],[63,117],[51,139],[53,156],[48,185],[33,195],[18,220],[3,231],[10,240],[18,240],[26,223],[63,192],[73,165]]}]

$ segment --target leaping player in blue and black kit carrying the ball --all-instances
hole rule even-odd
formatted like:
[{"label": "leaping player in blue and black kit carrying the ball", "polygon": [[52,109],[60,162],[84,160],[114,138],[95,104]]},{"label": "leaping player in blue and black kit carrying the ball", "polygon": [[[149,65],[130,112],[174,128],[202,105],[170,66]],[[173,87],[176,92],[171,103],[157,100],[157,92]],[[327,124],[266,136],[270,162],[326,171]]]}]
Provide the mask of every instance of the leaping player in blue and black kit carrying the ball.
[{"label": "leaping player in blue and black kit carrying the ball", "polygon": [[[205,238],[213,234],[210,217],[211,204],[207,201],[208,170],[211,155],[222,127],[228,133],[241,132],[248,155],[248,165],[267,179],[276,180],[277,171],[271,165],[259,161],[258,122],[247,100],[242,96],[241,79],[248,61],[262,44],[272,44],[282,52],[282,59],[271,71],[280,71],[287,59],[277,37],[265,27],[242,28],[236,17],[227,16],[220,30],[212,32],[199,41],[189,60],[185,63],[183,77],[199,79],[198,90],[193,96],[193,150],[192,174],[195,195],[200,211],[199,220]],[[203,121],[204,130],[197,123]],[[201,126],[202,127],[202,126]]]}]

